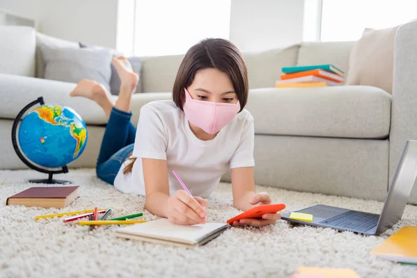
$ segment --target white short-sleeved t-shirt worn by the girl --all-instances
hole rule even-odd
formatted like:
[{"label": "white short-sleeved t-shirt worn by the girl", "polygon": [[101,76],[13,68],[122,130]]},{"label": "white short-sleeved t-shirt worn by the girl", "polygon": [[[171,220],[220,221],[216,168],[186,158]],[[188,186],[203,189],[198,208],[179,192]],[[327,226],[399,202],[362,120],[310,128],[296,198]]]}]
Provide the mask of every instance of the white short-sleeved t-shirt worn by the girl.
[{"label": "white short-sleeved t-shirt worn by the girl", "polygon": [[145,195],[142,159],[167,161],[170,195],[182,189],[175,170],[195,196],[208,197],[220,178],[231,168],[254,166],[254,120],[243,109],[213,140],[199,140],[191,131],[185,113],[174,101],[152,101],[140,109],[132,157],[132,172],[120,167],[114,186],[124,193]]}]

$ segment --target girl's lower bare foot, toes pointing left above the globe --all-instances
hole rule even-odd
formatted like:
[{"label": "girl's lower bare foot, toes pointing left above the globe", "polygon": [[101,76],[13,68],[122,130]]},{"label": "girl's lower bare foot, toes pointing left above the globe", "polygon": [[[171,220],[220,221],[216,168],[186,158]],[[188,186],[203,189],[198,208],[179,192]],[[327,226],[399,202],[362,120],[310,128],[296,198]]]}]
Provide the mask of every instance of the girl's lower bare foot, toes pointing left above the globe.
[{"label": "girl's lower bare foot, toes pointing left above the globe", "polygon": [[111,92],[108,92],[106,88],[96,81],[89,79],[81,80],[74,90],[70,92],[71,97],[86,97],[88,99],[94,100],[104,109],[106,115],[110,115],[111,108],[113,108],[114,103],[111,99]]}]

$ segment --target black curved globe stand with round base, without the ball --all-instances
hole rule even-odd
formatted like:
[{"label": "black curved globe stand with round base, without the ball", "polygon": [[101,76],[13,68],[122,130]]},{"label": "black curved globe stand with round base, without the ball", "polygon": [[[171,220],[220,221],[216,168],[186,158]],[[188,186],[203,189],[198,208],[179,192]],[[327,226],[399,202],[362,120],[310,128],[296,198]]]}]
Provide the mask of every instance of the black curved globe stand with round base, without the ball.
[{"label": "black curved globe stand with round base, without the ball", "polygon": [[64,180],[61,180],[61,179],[52,179],[53,174],[67,173],[68,172],[67,165],[63,166],[62,169],[60,169],[60,170],[46,170],[46,169],[43,169],[41,167],[38,167],[37,165],[33,165],[32,163],[30,163],[24,157],[24,155],[22,154],[22,152],[19,149],[19,146],[17,145],[17,140],[16,140],[17,126],[19,125],[19,122],[22,121],[22,116],[24,115],[24,113],[26,113],[26,111],[28,111],[32,106],[35,106],[36,104],[44,105],[45,103],[44,103],[43,97],[38,97],[38,99],[36,99],[35,101],[32,101],[30,104],[26,105],[22,109],[22,111],[20,111],[19,114],[17,114],[17,117],[15,118],[15,121],[13,122],[13,127],[12,127],[13,148],[15,149],[15,152],[16,152],[17,156],[19,156],[20,160],[24,164],[26,164],[28,167],[30,167],[31,169],[33,169],[35,171],[48,174],[48,179],[30,179],[29,182],[31,182],[31,183],[48,183],[48,184],[69,184],[69,183],[71,183],[71,181],[64,181]]}]

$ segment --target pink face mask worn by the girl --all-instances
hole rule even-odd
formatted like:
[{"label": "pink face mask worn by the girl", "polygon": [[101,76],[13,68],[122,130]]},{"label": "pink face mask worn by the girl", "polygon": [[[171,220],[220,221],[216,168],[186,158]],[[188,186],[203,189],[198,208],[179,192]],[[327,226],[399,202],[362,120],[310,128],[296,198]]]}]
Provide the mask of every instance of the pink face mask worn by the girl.
[{"label": "pink face mask worn by the girl", "polygon": [[184,91],[186,99],[183,102],[183,111],[187,120],[206,133],[218,133],[240,111],[239,101],[236,104],[202,101],[193,99],[186,88]]}]

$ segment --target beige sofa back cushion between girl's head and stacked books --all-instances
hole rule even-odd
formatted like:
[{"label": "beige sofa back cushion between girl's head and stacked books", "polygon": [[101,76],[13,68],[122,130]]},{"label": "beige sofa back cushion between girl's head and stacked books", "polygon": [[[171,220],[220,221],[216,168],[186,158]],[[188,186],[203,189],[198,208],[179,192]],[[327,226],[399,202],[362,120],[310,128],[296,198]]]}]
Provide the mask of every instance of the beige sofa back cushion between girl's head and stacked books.
[{"label": "beige sofa back cushion between girl's head and stacked books", "polygon": [[243,54],[247,66],[249,88],[273,88],[281,76],[282,67],[297,63],[299,44],[285,49],[273,49],[259,53]]}]

